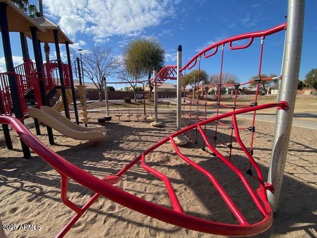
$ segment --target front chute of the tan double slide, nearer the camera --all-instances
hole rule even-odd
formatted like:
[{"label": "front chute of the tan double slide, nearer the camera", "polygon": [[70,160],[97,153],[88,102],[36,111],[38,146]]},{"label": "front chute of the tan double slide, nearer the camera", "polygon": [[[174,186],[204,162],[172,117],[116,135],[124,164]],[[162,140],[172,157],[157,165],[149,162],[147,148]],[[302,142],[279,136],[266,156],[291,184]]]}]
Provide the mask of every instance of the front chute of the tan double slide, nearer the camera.
[{"label": "front chute of the tan double slide, nearer the camera", "polygon": [[69,128],[63,122],[55,119],[51,115],[37,108],[28,108],[28,114],[30,117],[36,118],[39,121],[42,121],[43,123],[57,130],[61,134],[76,140],[101,140],[101,139],[104,139],[106,136],[106,131],[104,132],[100,130],[79,131],[79,130]]}]

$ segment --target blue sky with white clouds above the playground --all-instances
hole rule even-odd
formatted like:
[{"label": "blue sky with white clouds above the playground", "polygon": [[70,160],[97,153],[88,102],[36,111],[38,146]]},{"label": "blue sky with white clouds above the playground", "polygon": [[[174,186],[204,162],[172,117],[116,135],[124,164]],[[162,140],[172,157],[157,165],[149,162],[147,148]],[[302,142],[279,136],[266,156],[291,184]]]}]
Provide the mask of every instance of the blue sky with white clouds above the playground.
[{"label": "blue sky with white clouds above the playground", "polygon": [[[36,0],[31,2],[37,4]],[[73,40],[74,49],[85,50],[99,44],[120,56],[131,39],[154,37],[165,49],[166,64],[176,64],[179,44],[183,46],[185,64],[216,41],[273,27],[284,22],[287,14],[287,0],[43,0],[43,3],[46,17]],[[317,67],[316,9],[316,0],[306,0],[300,79]],[[284,35],[283,31],[265,39],[263,73],[280,73]],[[18,64],[22,60],[19,35],[11,33],[10,40],[14,63]],[[28,43],[34,59],[32,43],[30,40]],[[60,47],[66,62],[64,46]],[[55,59],[53,44],[51,51],[51,59]],[[226,47],[223,70],[236,74],[240,82],[248,81],[257,74],[259,51],[260,39],[246,50],[231,51]],[[219,72],[219,53],[202,60],[202,68],[210,74]],[[4,69],[1,47],[0,70]]]}]

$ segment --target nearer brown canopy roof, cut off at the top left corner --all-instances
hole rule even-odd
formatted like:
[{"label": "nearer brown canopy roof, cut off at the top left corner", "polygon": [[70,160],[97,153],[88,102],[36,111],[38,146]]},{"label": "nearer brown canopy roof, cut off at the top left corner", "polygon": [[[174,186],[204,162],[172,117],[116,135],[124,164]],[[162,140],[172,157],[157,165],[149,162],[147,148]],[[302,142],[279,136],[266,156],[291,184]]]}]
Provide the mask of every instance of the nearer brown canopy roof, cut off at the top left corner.
[{"label": "nearer brown canopy roof, cut off at the top left corner", "polygon": [[0,0],[0,2],[7,4],[6,12],[9,32],[23,32],[25,34],[31,35],[31,26],[38,28],[38,31],[41,33],[45,32],[43,27],[35,22],[34,19],[25,14],[25,12],[17,7],[11,0]]}]

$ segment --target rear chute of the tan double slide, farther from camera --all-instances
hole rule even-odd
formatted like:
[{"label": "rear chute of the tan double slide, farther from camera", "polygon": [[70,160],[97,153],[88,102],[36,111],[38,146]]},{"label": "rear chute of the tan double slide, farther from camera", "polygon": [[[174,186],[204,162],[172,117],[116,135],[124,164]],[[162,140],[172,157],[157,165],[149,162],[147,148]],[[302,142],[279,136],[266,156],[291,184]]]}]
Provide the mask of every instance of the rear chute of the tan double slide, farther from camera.
[{"label": "rear chute of the tan double slide, farther from camera", "polygon": [[[51,117],[54,119],[58,120],[60,123],[66,125],[68,128],[73,129],[73,130],[78,130],[78,131],[101,131],[106,133],[106,128],[105,127],[84,127],[84,126],[79,126],[75,124],[74,122],[70,121],[69,119],[65,118],[63,115],[60,113],[56,112],[54,109],[47,107],[47,106],[42,106],[41,110],[47,114],[49,114]],[[45,122],[43,122],[45,123]]]}]

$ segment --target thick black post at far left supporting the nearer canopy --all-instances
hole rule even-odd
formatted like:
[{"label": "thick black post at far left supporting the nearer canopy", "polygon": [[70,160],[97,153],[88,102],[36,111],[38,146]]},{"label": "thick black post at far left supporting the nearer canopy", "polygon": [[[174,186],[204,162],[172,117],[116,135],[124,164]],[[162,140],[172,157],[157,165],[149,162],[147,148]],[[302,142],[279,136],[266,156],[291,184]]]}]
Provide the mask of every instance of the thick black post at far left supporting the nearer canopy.
[{"label": "thick black post at far left supporting the nearer canopy", "polygon": [[[2,45],[3,45],[3,53],[4,53],[6,70],[8,72],[14,72],[11,45],[10,45],[10,36],[9,36],[9,29],[8,29],[8,21],[7,21],[7,14],[6,14],[6,6],[7,6],[6,3],[0,2],[1,37],[2,37]],[[15,80],[15,75],[8,74],[8,80],[10,85],[10,94],[11,94],[13,109],[15,112],[15,117],[23,121],[23,115],[21,111],[21,105],[20,105],[20,100],[18,95],[17,84]],[[9,136],[9,135],[6,135],[6,136]],[[20,141],[21,141],[21,147],[23,150],[24,158],[30,159],[31,158],[30,148],[21,139]]]}]

